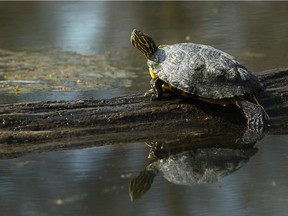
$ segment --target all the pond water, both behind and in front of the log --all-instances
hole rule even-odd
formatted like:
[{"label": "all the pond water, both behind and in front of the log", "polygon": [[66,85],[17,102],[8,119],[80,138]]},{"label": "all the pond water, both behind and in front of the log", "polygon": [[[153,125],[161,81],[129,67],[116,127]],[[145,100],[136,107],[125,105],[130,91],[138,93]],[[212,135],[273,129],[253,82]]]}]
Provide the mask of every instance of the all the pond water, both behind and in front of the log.
[{"label": "all the pond water, both behind and in front of the log", "polygon": [[[14,63],[10,67],[1,59],[0,81],[9,77],[30,83],[0,83],[0,103],[144,92],[149,88],[149,76],[145,59],[129,42],[134,28],[149,33],[159,44],[190,41],[212,45],[254,72],[285,67],[287,20],[286,2],[1,2],[0,56],[10,52],[16,60],[21,59],[21,70],[29,67],[24,67],[26,74],[22,71],[19,75]],[[36,55],[45,56],[45,64],[57,62],[54,70],[72,65],[68,70],[71,77],[63,73],[59,78],[41,69],[44,75],[39,78],[34,69],[40,71],[43,59],[30,61]],[[84,75],[79,78],[80,69],[74,64],[82,58],[96,66],[85,65],[89,73],[81,71]],[[69,65],[64,65],[69,59]],[[117,71],[121,75],[116,76]],[[67,84],[64,78],[72,81]],[[77,85],[82,79],[88,84]],[[45,86],[34,85],[35,80]],[[129,198],[129,183],[149,162],[145,143],[1,160],[0,212],[12,216],[282,216],[288,211],[287,138],[285,134],[266,135],[246,164],[211,184],[177,185],[159,174],[150,190],[134,202]]]}]

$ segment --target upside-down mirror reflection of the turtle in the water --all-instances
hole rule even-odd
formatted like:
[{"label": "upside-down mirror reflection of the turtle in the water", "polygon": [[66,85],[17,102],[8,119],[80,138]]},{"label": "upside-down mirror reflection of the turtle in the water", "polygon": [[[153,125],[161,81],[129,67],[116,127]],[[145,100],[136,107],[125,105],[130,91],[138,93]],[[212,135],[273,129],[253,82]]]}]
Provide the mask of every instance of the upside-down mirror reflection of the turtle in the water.
[{"label": "upside-down mirror reflection of the turtle in the water", "polygon": [[131,200],[146,193],[157,173],[174,184],[194,185],[217,182],[241,168],[257,152],[256,148],[219,149],[203,148],[184,151],[157,159],[131,180]]}]

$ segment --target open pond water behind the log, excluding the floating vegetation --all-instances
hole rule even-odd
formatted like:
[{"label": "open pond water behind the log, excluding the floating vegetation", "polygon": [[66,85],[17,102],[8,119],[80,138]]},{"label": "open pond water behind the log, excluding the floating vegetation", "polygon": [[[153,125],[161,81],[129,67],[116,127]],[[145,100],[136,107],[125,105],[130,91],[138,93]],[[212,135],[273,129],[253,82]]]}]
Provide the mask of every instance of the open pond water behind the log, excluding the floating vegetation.
[{"label": "open pond water behind the log, excluding the floating vegetation", "polygon": [[[149,33],[157,44],[187,41],[209,44],[230,53],[251,71],[258,72],[287,65],[287,8],[286,2],[1,2],[0,48],[24,49],[27,56],[35,48],[43,48],[42,53],[46,49],[47,56],[54,48],[104,56],[110,61],[109,65],[116,62],[116,69],[126,71],[129,86],[118,82],[115,76],[110,76],[114,85],[107,86],[123,95],[149,88],[145,59],[129,42],[132,29]],[[114,55],[112,60],[105,55],[107,52]],[[58,55],[61,58],[61,54]],[[41,67],[38,62],[34,66]],[[53,65],[53,61],[48,62],[49,66]],[[94,71],[111,74],[110,69],[103,71],[102,67]],[[59,71],[55,73],[59,74]],[[69,73],[74,74],[73,70]],[[79,78],[72,76],[70,79]],[[95,83],[88,90],[99,89],[99,81],[96,78],[90,80]],[[17,87],[17,84],[12,86]],[[16,91],[16,95],[13,88],[9,89],[13,93],[9,97],[25,101],[25,96],[30,100],[36,95],[34,92],[41,91],[45,92],[41,95],[43,100],[65,99],[63,91],[61,97],[51,96],[50,92],[45,95],[47,90],[59,92],[59,89],[43,90],[40,86],[34,87],[31,93],[30,87],[28,90],[27,85],[24,87],[24,90]],[[107,88],[101,88],[102,97],[109,97],[110,92],[103,91]],[[81,90],[87,89],[79,87],[77,91]],[[68,92],[67,97],[70,96]],[[85,97],[93,97],[93,93],[85,94]],[[75,98],[84,97],[76,94]]]}]

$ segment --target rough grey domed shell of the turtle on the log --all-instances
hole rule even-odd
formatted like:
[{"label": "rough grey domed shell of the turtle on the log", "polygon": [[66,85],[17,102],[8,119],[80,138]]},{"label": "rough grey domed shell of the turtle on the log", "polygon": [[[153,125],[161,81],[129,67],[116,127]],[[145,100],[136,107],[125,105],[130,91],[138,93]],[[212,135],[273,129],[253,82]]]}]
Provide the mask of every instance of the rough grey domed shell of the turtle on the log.
[{"label": "rough grey domed shell of the turtle on the log", "polygon": [[147,64],[164,82],[204,98],[231,98],[262,89],[257,77],[233,56],[211,46],[159,46]]}]

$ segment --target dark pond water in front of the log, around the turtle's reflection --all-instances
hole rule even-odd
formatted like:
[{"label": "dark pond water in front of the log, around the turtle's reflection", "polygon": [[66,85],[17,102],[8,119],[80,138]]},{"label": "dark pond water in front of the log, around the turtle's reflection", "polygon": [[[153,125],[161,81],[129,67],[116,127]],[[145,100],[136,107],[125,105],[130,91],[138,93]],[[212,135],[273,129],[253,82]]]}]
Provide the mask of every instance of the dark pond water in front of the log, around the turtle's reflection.
[{"label": "dark pond water in front of the log, around the turtle's reflection", "polygon": [[266,136],[244,166],[212,184],[176,185],[158,175],[134,202],[128,185],[148,163],[144,143],[2,160],[1,214],[281,216],[288,210],[287,144],[287,136]]}]

